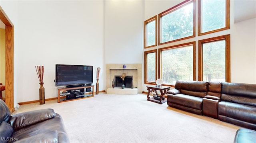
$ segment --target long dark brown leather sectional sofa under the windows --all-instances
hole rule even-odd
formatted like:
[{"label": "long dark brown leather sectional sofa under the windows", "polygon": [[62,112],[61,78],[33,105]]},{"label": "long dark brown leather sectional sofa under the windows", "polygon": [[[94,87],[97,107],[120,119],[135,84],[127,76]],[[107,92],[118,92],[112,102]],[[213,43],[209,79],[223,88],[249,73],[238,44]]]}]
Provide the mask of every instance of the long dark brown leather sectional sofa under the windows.
[{"label": "long dark brown leather sectional sofa under the windows", "polygon": [[256,84],[177,80],[168,106],[256,130]]}]

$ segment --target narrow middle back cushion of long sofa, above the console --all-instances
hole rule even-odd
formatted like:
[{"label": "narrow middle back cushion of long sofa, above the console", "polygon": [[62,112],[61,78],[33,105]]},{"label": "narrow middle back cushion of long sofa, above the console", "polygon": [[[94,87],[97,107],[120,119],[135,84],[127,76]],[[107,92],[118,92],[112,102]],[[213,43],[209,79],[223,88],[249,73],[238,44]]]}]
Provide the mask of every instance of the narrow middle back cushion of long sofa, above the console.
[{"label": "narrow middle back cushion of long sofa, above the console", "polygon": [[220,98],[221,95],[221,82],[209,81],[207,95],[217,96]]}]

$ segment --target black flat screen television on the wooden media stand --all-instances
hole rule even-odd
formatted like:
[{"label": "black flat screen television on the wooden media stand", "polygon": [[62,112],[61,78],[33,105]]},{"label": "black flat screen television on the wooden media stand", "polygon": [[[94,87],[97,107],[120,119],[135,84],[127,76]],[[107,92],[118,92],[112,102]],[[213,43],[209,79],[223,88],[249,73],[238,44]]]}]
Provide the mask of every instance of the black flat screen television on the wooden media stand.
[{"label": "black flat screen television on the wooden media stand", "polygon": [[55,86],[84,86],[93,82],[93,66],[56,64],[55,69]]}]

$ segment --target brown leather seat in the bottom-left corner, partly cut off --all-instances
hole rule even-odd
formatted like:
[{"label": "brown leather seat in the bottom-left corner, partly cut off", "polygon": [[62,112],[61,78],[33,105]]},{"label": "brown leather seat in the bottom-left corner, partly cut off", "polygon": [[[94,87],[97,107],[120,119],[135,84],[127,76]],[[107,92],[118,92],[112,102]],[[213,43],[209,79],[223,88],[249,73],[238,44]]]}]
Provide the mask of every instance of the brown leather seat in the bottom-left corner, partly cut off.
[{"label": "brown leather seat in the bottom-left corner, partly cut off", "polygon": [[10,115],[0,100],[1,143],[69,143],[61,116],[53,109],[42,109]]}]

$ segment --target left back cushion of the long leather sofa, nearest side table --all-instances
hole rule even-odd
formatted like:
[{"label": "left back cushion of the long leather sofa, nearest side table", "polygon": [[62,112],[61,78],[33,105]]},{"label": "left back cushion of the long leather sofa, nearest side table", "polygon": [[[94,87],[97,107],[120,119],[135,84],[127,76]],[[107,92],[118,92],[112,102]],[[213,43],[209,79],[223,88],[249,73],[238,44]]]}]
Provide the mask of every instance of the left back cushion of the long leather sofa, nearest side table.
[{"label": "left back cushion of the long leather sofa, nearest side table", "polygon": [[208,82],[176,80],[175,88],[182,94],[204,98]]}]

